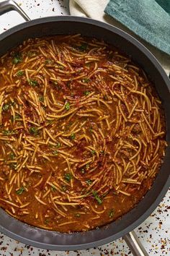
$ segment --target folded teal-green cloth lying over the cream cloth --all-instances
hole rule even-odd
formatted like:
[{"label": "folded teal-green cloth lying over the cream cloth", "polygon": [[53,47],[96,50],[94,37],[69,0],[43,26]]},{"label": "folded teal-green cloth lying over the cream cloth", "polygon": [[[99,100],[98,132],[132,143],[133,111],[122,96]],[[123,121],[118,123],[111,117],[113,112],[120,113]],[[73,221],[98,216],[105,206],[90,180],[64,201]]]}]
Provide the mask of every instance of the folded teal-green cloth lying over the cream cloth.
[{"label": "folded teal-green cloth lying over the cream cloth", "polygon": [[170,0],[110,0],[104,12],[170,54]]}]

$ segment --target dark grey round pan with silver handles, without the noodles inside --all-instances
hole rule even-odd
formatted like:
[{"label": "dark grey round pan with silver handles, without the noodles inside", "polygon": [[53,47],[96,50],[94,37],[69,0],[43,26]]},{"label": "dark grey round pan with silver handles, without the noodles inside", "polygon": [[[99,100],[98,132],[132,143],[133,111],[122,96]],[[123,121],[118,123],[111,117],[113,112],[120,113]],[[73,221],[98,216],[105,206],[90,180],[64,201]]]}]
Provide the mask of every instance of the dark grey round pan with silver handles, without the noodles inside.
[{"label": "dark grey round pan with silver handles, without the noodles inside", "polygon": [[166,194],[170,184],[170,82],[164,69],[162,69],[151,52],[139,43],[138,40],[117,29],[117,27],[88,18],[70,16],[45,17],[31,21],[14,1],[2,1],[0,3],[0,14],[11,10],[19,12],[27,22],[12,27],[12,29],[0,35],[0,56],[28,38],[76,33],[103,39],[131,56],[133,61],[139,64],[148,74],[161,98],[166,116],[166,142],[168,146],[164,163],[156,176],[151,190],[147,192],[143,200],[133,210],[130,210],[130,212],[117,221],[91,231],[61,234],[22,223],[9,216],[0,208],[0,231],[25,244],[55,250],[98,247],[122,236],[128,243],[133,255],[148,255],[142,244],[138,241],[133,229],[140,225],[155,210]]}]

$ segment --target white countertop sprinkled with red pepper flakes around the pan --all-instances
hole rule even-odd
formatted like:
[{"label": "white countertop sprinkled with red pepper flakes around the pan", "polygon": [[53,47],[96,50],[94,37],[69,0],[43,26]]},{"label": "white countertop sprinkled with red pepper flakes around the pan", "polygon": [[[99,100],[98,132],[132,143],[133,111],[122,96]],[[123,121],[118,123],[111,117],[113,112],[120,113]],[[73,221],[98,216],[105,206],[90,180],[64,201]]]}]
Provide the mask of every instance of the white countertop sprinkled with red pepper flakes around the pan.
[{"label": "white countertop sprinkled with red pepper flakes around the pan", "polygon": [[[66,15],[68,14],[67,0],[16,0],[31,19],[37,17]],[[17,12],[9,12],[0,17],[0,33],[10,27],[24,22]],[[158,208],[135,229],[143,246],[149,255],[170,255],[170,190],[166,193],[164,200]],[[58,252],[45,249],[37,249],[10,239],[0,234],[1,256],[88,256],[88,255],[132,255],[130,249],[123,239],[93,249]]]}]

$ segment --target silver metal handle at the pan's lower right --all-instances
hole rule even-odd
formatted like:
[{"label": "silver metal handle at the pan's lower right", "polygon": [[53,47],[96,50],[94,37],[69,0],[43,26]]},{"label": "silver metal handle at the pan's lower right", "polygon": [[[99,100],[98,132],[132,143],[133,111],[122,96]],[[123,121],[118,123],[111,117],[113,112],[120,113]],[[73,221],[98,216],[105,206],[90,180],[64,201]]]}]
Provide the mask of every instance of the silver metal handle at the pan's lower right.
[{"label": "silver metal handle at the pan's lower right", "polygon": [[148,256],[148,252],[146,252],[146,249],[140,243],[140,240],[135,234],[135,231],[131,231],[128,234],[125,234],[123,239],[125,239],[125,242],[128,244],[128,247],[134,256]]}]

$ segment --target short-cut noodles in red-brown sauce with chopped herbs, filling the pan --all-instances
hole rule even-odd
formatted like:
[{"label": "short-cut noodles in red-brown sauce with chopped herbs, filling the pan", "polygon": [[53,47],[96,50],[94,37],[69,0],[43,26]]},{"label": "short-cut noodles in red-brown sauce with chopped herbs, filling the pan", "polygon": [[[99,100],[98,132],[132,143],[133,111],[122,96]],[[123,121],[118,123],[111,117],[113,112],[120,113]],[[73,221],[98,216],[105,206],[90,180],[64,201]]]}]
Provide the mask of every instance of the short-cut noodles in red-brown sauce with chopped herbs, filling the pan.
[{"label": "short-cut noodles in red-brown sauce with chopped herbs, filling the pan", "polygon": [[146,74],[103,41],[29,39],[0,59],[0,205],[21,221],[114,221],[151,188],[165,135]]}]

